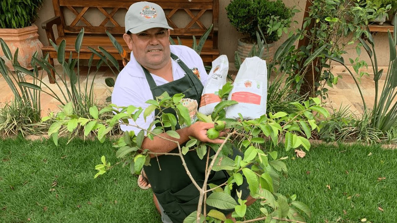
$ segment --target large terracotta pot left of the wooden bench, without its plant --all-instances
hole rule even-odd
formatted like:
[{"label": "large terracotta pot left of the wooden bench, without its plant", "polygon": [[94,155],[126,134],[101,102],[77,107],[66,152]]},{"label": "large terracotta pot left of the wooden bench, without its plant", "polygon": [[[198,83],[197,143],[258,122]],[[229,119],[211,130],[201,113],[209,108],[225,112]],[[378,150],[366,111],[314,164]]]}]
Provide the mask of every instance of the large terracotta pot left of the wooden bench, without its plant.
[{"label": "large terracotta pot left of the wooden bench, without its plant", "polygon": [[[41,48],[43,44],[39,40],[37,30],[35,24],[19,29],[0,29],[0,37],[6,42],[12,55],[14,55],[15,50],[18,48],[18,62],[21,64],[21,67],[25,67],[26,69],[33,69],[30,62],[32,55],[36,51],[37,57],[42,57]],[[13,71],[12,63],[6,58],[3,50],[0,50],[0,57],[6,61],[7,67]]]}]

